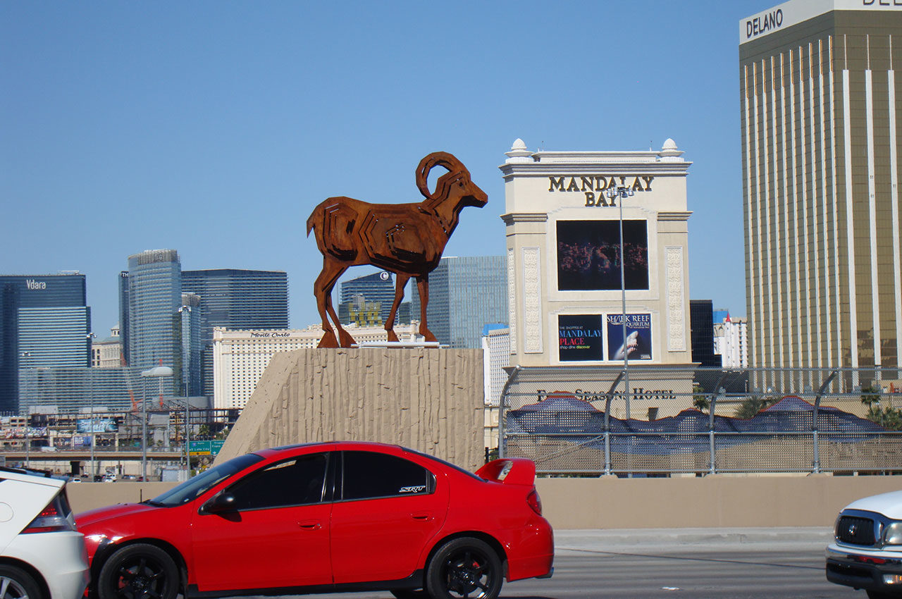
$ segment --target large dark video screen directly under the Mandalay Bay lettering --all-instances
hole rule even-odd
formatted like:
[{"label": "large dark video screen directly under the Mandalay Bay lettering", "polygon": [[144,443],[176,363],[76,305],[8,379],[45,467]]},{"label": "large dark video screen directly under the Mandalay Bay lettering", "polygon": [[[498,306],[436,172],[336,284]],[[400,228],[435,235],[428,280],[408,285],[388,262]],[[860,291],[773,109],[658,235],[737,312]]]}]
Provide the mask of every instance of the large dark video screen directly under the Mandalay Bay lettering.
[{"label": "large dark video screen directly under the Mandalay Bay lettering", "polygon": [[[557,289],[621,289],[618,220],[557,221]],[[628,290],[649,289],[649,232],[644,220],[623,221],[623,280]]]}]

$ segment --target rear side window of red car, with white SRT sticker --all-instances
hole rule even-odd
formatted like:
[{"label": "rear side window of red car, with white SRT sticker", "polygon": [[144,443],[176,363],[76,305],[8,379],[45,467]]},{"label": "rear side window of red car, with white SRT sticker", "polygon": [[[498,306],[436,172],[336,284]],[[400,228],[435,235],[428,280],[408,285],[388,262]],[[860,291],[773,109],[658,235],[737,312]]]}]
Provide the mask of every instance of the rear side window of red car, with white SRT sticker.
[{"label": "rear side window of red car, with white SRT sticker", "polygon": [[421,495],[435,491],[436,477],[426,468],[398,456],[371,451],[345,451],[342,499]]}]

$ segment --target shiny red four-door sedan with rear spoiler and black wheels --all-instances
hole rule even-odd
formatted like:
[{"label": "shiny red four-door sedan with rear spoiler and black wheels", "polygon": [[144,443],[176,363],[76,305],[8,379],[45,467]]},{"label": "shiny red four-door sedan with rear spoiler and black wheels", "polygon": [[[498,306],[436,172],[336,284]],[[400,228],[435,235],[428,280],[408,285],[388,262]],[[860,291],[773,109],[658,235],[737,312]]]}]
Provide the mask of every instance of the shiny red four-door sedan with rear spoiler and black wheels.
[{"label": "shiny red four-door sedan with rear spoiler and black wheels", "polygon": [[77,521],[98,599],[361,590],[492,599],[502,578],[551,576],[535,475],[523,458],[474,475],[378,443],[277,447]]}]

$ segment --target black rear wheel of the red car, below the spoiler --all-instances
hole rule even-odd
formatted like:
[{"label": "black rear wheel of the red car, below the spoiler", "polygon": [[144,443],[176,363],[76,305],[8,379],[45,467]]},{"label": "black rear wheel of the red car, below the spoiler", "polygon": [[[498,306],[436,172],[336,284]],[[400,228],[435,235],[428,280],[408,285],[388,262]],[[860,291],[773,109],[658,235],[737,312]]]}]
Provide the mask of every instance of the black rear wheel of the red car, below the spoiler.
[{"label": "black rear wheel of the red car, below the spoiler", "polygon": [[446,542],[429,562],[426,589],[433,599],[495,599],[502,590],[502,563],[480,539]]}]

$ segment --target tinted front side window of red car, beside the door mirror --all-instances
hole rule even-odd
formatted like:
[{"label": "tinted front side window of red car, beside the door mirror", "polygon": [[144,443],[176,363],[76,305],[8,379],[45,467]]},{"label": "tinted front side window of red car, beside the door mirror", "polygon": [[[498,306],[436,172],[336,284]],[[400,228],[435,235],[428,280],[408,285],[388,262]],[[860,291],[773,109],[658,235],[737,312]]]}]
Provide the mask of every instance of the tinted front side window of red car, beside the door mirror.
[{"label": "tinted front side window of red car, beside the door mirror", "polygon": [[303,505],[323,501],[326,454],[293,457],[268,465],[232,485],[236,510]]}]

